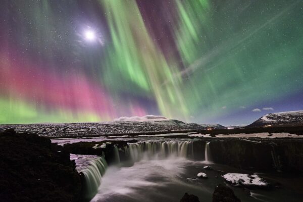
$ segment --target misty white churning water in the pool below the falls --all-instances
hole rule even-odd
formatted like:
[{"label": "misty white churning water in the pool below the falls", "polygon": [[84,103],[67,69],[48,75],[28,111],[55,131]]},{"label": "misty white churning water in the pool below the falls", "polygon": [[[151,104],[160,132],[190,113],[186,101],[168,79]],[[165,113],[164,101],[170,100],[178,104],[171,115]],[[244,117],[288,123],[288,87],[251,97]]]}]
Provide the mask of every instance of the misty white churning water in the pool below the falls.
[{"label": "misty white churning water in the pool below the falls", "polygon": [[131,167],[109,167],[92,201],[178,201],[186,188],[210,195],[211,189],[191,184],[183,176],[191,163],[170,157],[142,159]]}]

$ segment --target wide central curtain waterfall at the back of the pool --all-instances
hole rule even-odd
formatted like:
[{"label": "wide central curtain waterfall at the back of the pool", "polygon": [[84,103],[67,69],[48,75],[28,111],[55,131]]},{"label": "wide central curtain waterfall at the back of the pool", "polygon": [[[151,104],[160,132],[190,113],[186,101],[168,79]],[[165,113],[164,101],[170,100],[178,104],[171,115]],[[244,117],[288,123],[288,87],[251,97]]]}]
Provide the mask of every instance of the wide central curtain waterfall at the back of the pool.
[{"label": "wide central curtain waterfall at the back of the pool", "polygon": [[[192,141],[141,141],[128,143],[128,146],[129,155],[133,162],[142,158],[164,159],[167,157],[186,158],[189,155],[192,156]],[[189,146],[191,146],[191,149],[189,149]]]}]

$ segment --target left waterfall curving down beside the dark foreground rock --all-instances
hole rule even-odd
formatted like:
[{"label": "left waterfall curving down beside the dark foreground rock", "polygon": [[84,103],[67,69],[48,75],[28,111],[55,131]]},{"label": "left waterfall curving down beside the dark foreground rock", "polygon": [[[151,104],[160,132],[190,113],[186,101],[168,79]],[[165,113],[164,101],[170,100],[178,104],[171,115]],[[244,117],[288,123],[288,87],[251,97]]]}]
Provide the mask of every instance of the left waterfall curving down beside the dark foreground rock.
[{"label": "left waterfall curving down beside the dark foreground rock", "polygon": [[75,160],[76,170],[84,175],[83,198],[91,199],[98,191],[101,178],[107,169],[107,162],[103,157],[91,155],[73,155],[71,160]]}]

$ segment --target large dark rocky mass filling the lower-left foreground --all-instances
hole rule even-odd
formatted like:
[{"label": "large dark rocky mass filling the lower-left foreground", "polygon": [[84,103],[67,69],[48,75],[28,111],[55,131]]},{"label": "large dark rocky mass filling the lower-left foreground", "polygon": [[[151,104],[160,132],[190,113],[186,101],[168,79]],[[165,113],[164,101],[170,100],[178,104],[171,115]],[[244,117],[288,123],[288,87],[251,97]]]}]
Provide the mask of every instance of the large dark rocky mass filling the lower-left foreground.
[{"label": "large dark rocky mass filling the lower-left foreground", "polygon": [[81,176],[69,153],[36,134],[0,132],[1,201],[78,201]]}]

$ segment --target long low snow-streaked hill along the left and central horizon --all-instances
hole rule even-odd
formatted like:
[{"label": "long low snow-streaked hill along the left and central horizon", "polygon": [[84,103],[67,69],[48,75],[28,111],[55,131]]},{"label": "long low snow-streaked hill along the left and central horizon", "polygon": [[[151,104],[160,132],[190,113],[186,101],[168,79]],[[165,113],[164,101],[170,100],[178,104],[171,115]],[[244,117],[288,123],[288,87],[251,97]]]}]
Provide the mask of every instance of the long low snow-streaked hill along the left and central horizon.
[{"label": "long low snow-streaked hill along the left and central horizon", "polygon": [[18,132],[35,132],[44,136],[91,136],[111,134],[133,134],[150,132],[195,131],[225,129],[219,124],[184,123],[170,119],[162,121],[112,121],[102,123],[20,124],[0,125],[0,131],[15,128]]}]

